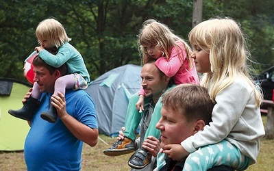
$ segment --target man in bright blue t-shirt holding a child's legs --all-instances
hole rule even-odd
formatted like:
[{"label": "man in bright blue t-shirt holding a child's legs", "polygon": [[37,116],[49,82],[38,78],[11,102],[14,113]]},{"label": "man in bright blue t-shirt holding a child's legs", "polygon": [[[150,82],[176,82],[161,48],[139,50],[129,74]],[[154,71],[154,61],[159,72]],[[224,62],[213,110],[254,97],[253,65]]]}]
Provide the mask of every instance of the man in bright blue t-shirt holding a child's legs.
[{"label": "man in bright blue t-shirt holding a child's legs", "polygon": [[[25,140],[27,170],[81,170],[83,142],[97,144],[98,126],[95,105],[84,90],[67,90],[53,95],[55,80],[66,74],[66,66],[53,68],[39,56],[34,58],[34,81],[42,92],[36,114],[29,122]],[[31,92],[27,93],[27,101]],[[52,101],[52,102],[51,102]],[[49,103],[56,108],[58,119],[51,124],[40,118]]]}]

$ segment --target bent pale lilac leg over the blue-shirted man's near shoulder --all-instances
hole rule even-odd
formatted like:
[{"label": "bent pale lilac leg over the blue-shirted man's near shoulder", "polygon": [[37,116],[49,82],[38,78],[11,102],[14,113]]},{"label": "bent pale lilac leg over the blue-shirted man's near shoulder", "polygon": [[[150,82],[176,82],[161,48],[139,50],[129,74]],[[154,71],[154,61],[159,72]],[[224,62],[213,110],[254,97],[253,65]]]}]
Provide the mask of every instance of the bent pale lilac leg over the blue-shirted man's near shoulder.
[{"label": "bent pale lilac leg over the blue-shirted man's near shoulder", "polygon": [[66,89],[74,89],[74,88],[75,88],[75,75],[73,75],[73,74],[64,75],[62,77],[59,77],[55,81],[53,94],[58,95],[58,92],[65,94]]}]

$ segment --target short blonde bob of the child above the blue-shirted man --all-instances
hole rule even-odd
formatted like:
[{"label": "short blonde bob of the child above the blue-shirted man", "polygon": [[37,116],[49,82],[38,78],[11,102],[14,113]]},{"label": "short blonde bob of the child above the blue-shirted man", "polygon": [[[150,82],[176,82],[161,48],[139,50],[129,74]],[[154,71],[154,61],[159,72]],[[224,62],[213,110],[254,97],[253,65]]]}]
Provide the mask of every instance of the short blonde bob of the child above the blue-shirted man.
[{"label": "short blonde bob of the child above the blue-shirted man", "polygon": [[71,41],[71,38],[66,35],[62,24],[54,18],[47,18],[41,21],[36,28],[35,34],[38,43],[40,43],[40,40],[48,40],[56,48],[62,47],[65,42]]}]

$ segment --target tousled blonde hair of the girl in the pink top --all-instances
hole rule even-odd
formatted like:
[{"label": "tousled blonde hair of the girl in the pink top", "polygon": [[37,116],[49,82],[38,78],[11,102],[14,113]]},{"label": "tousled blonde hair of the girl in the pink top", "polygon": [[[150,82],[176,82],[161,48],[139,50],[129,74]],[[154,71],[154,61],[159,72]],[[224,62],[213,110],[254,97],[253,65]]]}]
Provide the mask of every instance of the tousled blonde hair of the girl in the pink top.
[{"label": "tousled blonde hair of the girl in the pink top", "polygon": [[[179,38],[179,36],[173,34],[169,27],[153,19],[149,19],[142,24],[142,29],[140,29],[140,33],[138,35],[139,51],[142,53],[142,64],[145,64],[147,61],[151,60],[151,57],[147,53],[147,49],[144,48],[144,46],[151,44],[156,45],[162,50],[163,56],[166,57],[167,61],[169,61],[171,49],[175,47],[179,59],[183,63],[183,55],[179,53],[179,45],[182,45],[186,49],[189,64],[189,68],[186,69],[192,68],[192,60],[190,59],[191,48],[187,42],[182,38]],[[184,51],[184,49],[181,50]]]}]

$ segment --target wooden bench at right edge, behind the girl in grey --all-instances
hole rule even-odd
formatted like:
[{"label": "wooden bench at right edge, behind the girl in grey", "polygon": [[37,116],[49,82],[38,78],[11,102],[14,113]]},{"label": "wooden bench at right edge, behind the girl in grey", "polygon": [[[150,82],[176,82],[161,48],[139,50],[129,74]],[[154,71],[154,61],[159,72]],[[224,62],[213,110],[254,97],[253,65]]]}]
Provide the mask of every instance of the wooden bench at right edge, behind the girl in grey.
[{"label": "wooden bench at right edge, behind the girl in grey", "polygon": [[262,103],[267,107],[266,120],[266,139],[274,139],[274,102],[269,100],[262,100]]}]

